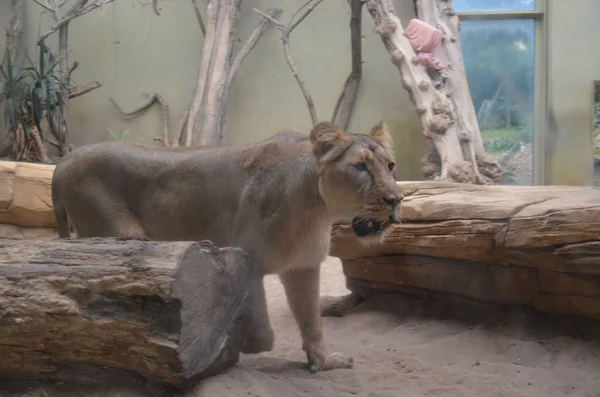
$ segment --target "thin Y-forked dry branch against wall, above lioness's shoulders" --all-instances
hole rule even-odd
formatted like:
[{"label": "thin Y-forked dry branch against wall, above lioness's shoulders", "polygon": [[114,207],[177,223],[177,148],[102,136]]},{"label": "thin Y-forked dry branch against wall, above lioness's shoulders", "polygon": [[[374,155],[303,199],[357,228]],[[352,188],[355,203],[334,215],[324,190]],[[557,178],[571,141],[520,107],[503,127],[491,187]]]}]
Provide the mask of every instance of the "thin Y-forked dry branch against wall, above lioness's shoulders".
[{"label": "thin Y-forked dry branch against wall, above lioness's shoulders", "polygon": [[[315,7],[317,7],[322,2],[323,0],[309,0],[305,2],[298,10],[296,10],[296,12],[294,12],[294,14],[292,14],[292,17],[290,18],[287,25],[284,25],[283,23],[279,22],[277,19],[271,17],[270,15],[267,15],[266,13],[257,10],[256,8],[253,8],[254,11],[258,12],[259,14],[273,22],[277,29],[281,31],[281,41],[283,42],[283,53],[285,55],[285,60],[288,66],[290,67],[290,70],[292,72],[292,75],[296,79],[296,82],[300,86],[302,95],[304,95],[304,99],[306,100],[306,105],[308,106],[308,112],[310,114],[310,119],[313,125],[319,122],[319,118],[317,116],[317,111],[315,109],[315,104],[313,102],[312,96],[308,92],[306,84],[300,77],[300,74],[298,73],[298,68],[296,67],[296,64],[294,63],[294,60],[292,58],[292,50],[290,48],[290,35],[294,31],[294,29],[302,21],[304,21],[304,19],[315,9]],[[304,10],[304,13],[298,19],[295,20],[296,16],[300,14],[302,10]]]}]

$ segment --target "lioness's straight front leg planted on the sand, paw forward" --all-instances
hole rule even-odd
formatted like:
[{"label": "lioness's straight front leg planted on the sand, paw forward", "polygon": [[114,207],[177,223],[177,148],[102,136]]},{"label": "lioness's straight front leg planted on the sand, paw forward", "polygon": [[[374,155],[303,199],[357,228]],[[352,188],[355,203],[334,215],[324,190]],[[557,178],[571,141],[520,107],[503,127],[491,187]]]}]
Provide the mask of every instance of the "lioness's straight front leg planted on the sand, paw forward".
[{"label": "lioness's straight front leg planted on the sand, paw forward", "polygon": [[328,355],[323,346],[319,307],[319,267],[291,269],[280,275],[288,304],[300,328],[302,348],[311,372],[352,368],[354,360],[340,353]]}]

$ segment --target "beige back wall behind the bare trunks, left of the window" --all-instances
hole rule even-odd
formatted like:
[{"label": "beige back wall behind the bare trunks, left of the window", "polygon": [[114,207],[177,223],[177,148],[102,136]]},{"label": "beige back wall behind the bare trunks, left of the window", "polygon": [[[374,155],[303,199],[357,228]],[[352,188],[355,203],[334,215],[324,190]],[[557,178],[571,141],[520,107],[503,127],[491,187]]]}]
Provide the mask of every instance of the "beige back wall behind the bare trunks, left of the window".
[{"label": "beige back wall behind the bare trunks, left of the window", "polygon": [[[8,14],[4,3],[0,2],[3,18]],[[40,17],[39,6],[27,3],[26,41],[30,48],[35,48],[38,31],[47,28],[49,18]],[[246,2],[237,36],[245,40],[259,21],[253,7],[282,8],[282,18],[287,20],[302,3],[295,0]],[[75,145],[107,139],[107,128],[114,132],[130,130],[127,139],[145,143],[160,134],[159,107],[126,120],[108,101],[109,96],[130,110],[145,101],[145,94],[159,92],[169,102],[171,128],[189,104],[202,36],[188,1],[165,0],[159,4],[161,16],[136,0],[117,0],[71,23],[70,55],[81,64],[73,75],[75,82],[98,80],[102,83],[102,88],[69,104],[70,141]],[[396,1],[396,6],[405,20],[414,16],[412,0]],[[320,119],[331,117],[350,70],[348,22],[349,8],[345,2],[326,1],[292,36],[296,64],[313,95]],[[397,70],[372,29],[371,16],[365,9],[364,75],[349,130],[367,132],[380,119],[386,121],[396,140],[398,177],[421,179],[424,139],[419,122],[401,87]],[[57,48],[55,36],[49,43],[53,49]],[[271,29],[246,58],[233,84],[226,141],[253,142],[290,128],[308,133],[309,127],[308,110],[285,62],[279,33]]]}]

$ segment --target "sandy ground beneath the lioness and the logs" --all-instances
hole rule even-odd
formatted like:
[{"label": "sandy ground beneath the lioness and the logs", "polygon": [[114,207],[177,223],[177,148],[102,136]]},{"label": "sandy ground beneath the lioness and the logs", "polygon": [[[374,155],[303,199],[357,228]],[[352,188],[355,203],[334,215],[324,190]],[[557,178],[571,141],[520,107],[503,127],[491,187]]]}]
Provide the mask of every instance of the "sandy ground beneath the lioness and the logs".
[{"label": "sandy ground beneath the lioness and the logs", "polygon": [[[242,356],[238,365],[205,380],[186,397],[600,396],[598,323],[525,308],[399,295],[374,297],[344,317],[325,317],[328,349],[354,357],[355,366],[310,374],[281,283],[275,277],[265,283],[275,349]],[[322,295],[347,292],[339,261],[329,259],[323,266]],[[131,380],[100,387],[0,386],[2,397],[175,395]]]}]

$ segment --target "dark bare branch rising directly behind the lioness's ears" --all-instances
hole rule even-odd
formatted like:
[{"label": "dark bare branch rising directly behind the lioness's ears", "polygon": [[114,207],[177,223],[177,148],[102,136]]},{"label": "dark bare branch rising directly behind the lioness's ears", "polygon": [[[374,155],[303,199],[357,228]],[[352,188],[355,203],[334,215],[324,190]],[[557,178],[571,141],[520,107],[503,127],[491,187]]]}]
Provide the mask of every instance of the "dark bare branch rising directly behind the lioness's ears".
[{"label": "dark bare branch rising directly behind the lioness's ears", "polygon": [[350,115],[356,102],[358,87],[362,79],[362,0],[351,0],[351,15],[350,15],[350,44],[352,47],[352,70],[344,83],[344,88],[338,98],[331,117],[331,122],[341,126],[343,129],[348,128]]}]

